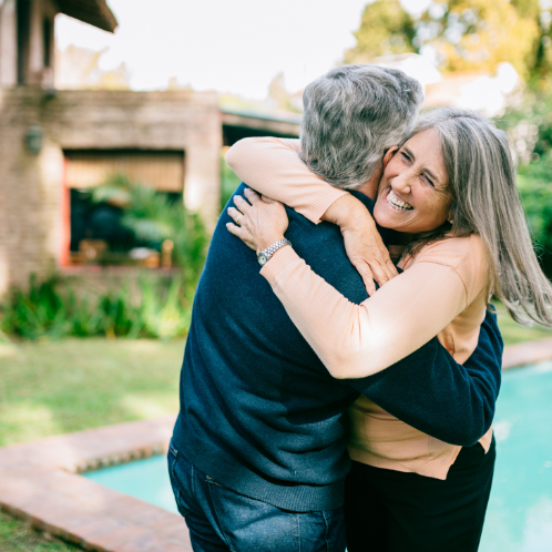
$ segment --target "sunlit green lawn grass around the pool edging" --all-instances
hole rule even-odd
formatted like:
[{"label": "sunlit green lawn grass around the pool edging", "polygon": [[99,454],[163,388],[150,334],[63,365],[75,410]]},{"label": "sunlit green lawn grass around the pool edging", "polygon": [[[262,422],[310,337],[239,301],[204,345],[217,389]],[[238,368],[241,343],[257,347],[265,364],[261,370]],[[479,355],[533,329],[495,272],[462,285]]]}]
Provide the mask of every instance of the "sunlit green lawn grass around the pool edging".
[{"label": "sunlit green lawn grass around the pool edging", "polygon": [[[552,337],[499,305],[507,345]],[[0,446],[176,412],[184,340],[64,339],[0,344]],[[69,552],[0,512],[3,552]]]}]

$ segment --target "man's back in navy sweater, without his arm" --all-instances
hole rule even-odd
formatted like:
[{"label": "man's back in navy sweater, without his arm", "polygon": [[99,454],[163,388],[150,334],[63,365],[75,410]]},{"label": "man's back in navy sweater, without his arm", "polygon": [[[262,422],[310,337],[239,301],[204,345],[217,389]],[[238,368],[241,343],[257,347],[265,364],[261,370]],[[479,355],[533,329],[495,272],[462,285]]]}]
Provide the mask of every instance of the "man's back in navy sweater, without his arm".
[{"label": "man's back in navy sweater, without his arm", "polygon": [[[313,268],[350,300],[366,299],[339,228],[288,214],[286,235]],[[349,468],[341,416],[358,392],[328,374],[229,221],[218,222],[197,287],[174,442],[238,492],[299,511],[337,508]]]}]

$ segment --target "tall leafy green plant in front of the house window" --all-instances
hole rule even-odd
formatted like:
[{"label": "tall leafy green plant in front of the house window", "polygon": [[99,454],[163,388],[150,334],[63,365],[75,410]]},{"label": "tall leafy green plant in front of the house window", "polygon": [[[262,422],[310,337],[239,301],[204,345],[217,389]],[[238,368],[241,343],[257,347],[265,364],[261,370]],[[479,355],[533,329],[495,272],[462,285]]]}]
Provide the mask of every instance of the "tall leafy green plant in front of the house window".
[{"label": "tall leafy green plant in front of the house window", "polygon": [[137,238],[157,247],[164,239],[171,239],[174,263],[183,267],[186,279],[197,282],[208,244],[198,214],[186,213],[183,203],[174,203],[166,194],[133,183],[124,174],[111,175],[105,184],[94,188],[92,200],[123,207],[121,224]]}]

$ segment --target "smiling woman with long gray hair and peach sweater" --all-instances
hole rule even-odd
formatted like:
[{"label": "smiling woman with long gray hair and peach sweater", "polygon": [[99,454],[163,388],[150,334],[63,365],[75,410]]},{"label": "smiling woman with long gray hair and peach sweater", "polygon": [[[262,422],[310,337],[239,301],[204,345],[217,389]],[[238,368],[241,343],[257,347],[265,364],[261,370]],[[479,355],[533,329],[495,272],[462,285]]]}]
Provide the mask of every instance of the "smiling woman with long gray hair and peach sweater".
[{"label": "smiling woman with long gray hair and peach sweater", "polygon": [[[293,141],[249,139],[228,152],[227,162],[253,188],[303,208],[306,216],[333,194],[321,218],[341,227],[371,297],[351,304],[290,244],[278,247],[260,274],[336,378],[384,370],[436,335],[462,364],[477,346],[493,294],[515,320],[552,326],[552,288],[531,246],[508,140],[489,121],[467,111],[436,110],[420,117],[401,147],[385,155],[374,218],[398,232],[405,246],[398,266],[405,272],[397,275],[390,263],[380,262],[380,284],[388,283],[377,293],[366,268],[374,266],[369,252],[378,242],[368,211],[309,173],[297,153]],[[266,166],[270,172],[259,170]],[[294,180],[305,183],[308,174],[305,196]],[[287,228],[284,206],[268,197],[249,191],[251,203],[237,197],[237,208],[228,209],[238,225],[229,224],[229,232],[262,256],[274,244],[285,244]],[[318,223],[316,214],[313,222]],[[476,551],[492,481],[492,430],[462,449],[366,398],[349,416],[349,552]]]}]

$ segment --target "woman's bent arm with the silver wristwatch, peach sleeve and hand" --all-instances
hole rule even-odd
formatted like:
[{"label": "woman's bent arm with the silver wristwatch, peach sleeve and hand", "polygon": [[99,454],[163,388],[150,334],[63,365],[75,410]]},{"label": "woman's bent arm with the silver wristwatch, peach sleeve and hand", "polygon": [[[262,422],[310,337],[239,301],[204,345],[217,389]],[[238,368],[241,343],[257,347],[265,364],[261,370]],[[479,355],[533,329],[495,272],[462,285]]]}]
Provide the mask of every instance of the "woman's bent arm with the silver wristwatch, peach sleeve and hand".
[{"label": "woman's bent arm with the silver wristwatch, peach sleeve and hand", "polygon": [[[242,214],[232,213],[241,226],[228,224],[228,229],[260,251],[284,236],[287,215],[277,202],[265,203],[253,193],[248,198],[253,205],[242,200]],[[431,258],[361,305],[317,276],[292,247],[279,249],[262,274],[330,374],[362,378],[417,350],[467,307],[467,287],[454,267]]]}]

